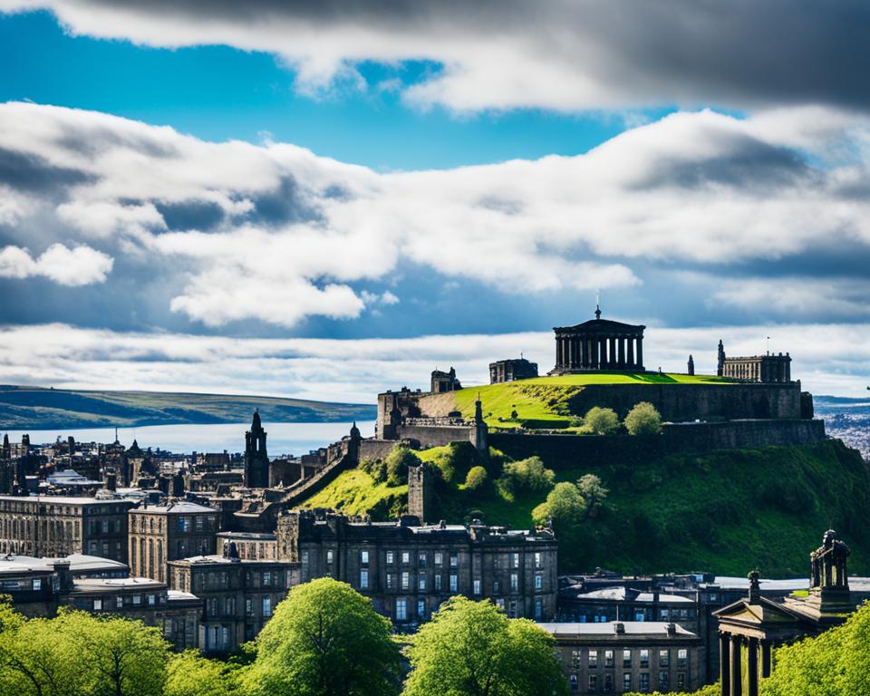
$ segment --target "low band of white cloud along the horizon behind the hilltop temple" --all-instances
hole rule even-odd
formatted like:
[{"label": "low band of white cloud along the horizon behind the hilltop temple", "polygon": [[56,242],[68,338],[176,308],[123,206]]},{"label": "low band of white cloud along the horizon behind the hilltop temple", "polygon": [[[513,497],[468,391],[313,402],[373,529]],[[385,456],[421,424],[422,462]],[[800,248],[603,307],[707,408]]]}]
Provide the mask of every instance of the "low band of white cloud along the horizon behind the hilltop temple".
[{"label": "low band of white cloud along the horizon behind the hilltop temple", "polygon": [[[647,369],[698,372],[727,353],[791,353],[792,374],[817,394],[863,396],[870,380],[870,324],[649,328]],[[466,386],[488,382],[488,363],[519,353],[553,366],[551,332],[431,335],[407,339],[238,339],[178,333],[116,333],[66,324],[0,328],[0,383],[294,396],[373,403],[385,389],[426,389],[430,372],[456,367]]]}]

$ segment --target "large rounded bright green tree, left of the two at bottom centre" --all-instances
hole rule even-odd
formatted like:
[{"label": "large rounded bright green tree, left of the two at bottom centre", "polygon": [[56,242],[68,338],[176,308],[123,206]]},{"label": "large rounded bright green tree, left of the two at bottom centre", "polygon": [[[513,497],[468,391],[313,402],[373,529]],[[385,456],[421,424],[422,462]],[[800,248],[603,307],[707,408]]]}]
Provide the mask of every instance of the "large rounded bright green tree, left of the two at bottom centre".
[{"label": "large rounded bright green tree, left of the two at bottom centre", "polygon": [[262,696],[393,696],[399,649],[391,623],[350,585],[297,585],[256,638],[246,693]]}]

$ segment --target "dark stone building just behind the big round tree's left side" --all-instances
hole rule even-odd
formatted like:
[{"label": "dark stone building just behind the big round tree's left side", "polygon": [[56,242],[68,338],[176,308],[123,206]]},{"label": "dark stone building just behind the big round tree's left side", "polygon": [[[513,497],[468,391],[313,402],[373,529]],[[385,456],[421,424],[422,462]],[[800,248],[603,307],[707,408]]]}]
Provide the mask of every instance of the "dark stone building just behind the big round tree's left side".
[{"label": "dark stone building just behind the big round tree's left side", "polygon": [[232,546],[220,555],[169,561],[169,585],[203,602],[198,645],[203,652],[233,652],[256,638],[287,591],[298,584],[298,565],[241,560]]}]

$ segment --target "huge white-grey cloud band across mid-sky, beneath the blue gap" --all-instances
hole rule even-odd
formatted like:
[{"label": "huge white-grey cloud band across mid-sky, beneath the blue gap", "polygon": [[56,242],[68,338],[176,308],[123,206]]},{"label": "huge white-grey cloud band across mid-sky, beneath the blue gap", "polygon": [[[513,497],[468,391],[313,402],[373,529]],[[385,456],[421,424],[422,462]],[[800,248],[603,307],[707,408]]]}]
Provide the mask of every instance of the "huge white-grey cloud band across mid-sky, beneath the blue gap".
[{"label": "huge white-grey cloud band across mid-sky, beneath the blue gap", "polygon": [[[15,189],[18,229],[170,268],[176,313],[292,326],[359,316],[373,306],[360,285],[390,305],[372,284],[409,265],[528,295],[639,286],[639,261],[721,269],[820,247],[863,254],[868,133],[866,118],[818,108],[679,112],[581,156],[378,173],[285,143],[6,103],[0,149],[76,176],[61,194],[0,185]],[[739,304],[749,285],[722,292]]]}]

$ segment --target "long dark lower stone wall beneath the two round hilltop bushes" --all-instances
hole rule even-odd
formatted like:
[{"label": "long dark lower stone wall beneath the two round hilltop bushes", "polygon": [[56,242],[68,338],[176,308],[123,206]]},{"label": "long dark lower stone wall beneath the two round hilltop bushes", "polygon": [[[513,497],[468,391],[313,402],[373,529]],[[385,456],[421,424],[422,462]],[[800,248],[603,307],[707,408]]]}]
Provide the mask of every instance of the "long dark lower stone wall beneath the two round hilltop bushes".
[{"label": "long dark lower stone wall beneath the two round hilltop bushes", "polygon": [[732,420],[662,427],[660,435],[558,435],[490,432],[489,445],[514,459],[533,455],[549,463],[650,459],[712,449],[759,449],[825,440],[823,420]]}]

